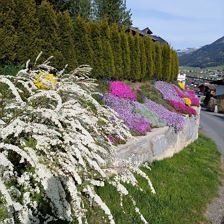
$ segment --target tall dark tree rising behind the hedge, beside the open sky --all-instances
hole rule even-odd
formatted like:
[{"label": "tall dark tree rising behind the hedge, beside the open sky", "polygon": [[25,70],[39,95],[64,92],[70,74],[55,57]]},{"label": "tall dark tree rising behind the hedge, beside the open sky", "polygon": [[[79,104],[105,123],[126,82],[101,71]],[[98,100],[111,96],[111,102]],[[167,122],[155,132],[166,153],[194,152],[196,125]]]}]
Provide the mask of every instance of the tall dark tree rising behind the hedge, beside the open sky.
[{"label": "tall dark tree rising behind the hedge, beside the open sky", "polygon": [[106,17],[110,25],[117,23],[130,27],[132,24],[131,12],[123,0],[94,0],[93,7],[97,20]]}]

